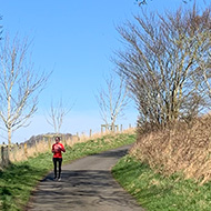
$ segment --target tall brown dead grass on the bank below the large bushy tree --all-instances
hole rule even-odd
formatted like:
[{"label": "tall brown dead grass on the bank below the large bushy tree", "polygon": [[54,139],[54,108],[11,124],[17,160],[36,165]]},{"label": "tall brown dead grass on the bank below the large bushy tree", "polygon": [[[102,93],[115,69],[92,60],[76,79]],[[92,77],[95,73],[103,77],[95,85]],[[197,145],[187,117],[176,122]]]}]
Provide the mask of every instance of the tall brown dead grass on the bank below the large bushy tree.
[{"label": "tall brown dead grass on the bank below the large bushy tree", "polygon": [[211,180],[211,115],[139,134],[130,153],[165,175],[182,172],[187,179],[208,182]]}]

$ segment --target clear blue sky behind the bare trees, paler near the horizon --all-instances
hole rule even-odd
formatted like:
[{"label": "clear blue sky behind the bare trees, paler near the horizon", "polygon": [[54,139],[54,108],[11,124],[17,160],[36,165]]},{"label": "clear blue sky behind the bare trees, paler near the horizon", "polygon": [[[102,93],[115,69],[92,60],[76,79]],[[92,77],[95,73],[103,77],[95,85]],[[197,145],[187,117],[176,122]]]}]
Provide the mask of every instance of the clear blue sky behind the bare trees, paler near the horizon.
[{"label": "clear blue sky behind the bare trees, paler near the horizon", "polygon": [[[172,10],[182,0],[153,0],[148,10]],[[203,0],[198,4],[204,6]],[[208,2],[208,1],[207,1]],[[3,36],[32,40],[30,51],[34,68],[50,72],[47,88],[40,94],[38,112],[28,128],[13,133],[12,142],[22,142],[31,135],[53,132],[44,118],[53,99],[74,103],[61,132],[100,131],[103,123],[94,93],[104,86],[104,76],[115,67],[110,61],[113,51],[122,47],[115,26],[141,12],[134,0],[8,0],[0,1]],[[135,125],[138,111],[133,103],[117,123]],[[2,134],[2,131],[0,131]],[[0,143],[2,142],[0,138]],[[6,141],[6,140],[4,140]]]}]

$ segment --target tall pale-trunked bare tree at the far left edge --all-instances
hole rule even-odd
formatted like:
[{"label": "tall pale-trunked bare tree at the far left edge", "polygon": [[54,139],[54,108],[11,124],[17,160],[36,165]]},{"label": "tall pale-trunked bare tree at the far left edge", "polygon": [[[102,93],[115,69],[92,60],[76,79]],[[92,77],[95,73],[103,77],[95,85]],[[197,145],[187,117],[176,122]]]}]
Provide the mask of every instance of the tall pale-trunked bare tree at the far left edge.
[{"label": "tall pale-trunked bare tree at the far left edge", "polygon": [[27,40],[10,41],[7,37],[0,52],[0,119],[9,145],[12,132],[29,125],[28,120],[37,111],[38,96],[50,76],[39,76],[33,70],[27,61],[28,47]]}]

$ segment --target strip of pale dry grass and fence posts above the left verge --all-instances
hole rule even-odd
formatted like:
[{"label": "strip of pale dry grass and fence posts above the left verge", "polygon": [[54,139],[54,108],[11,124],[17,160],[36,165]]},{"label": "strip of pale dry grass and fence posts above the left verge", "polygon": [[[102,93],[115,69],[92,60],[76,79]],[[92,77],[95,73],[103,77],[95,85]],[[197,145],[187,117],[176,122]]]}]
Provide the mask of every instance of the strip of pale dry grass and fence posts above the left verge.
[{"label": "strip of pale dry grass and fence posts above the left verge", "polygon": [[[129,132],[134,130],[134,128],[131,128],[129,125],[129,129],[127,130],[101,130],[99,133],[92,133],[92,130],[90,130],[89,134],[78,134],[72,135],[70,133],[67,134],[59,134],[61,137],[61,142],[64,145],[73,147],[76,143],[79,142],[86,142],[90,139],[97,139],[101,138],[102,135],[109,134],[109,133],[122,133],[122,132]],[[2,144],[0,147],[0,169],[4,169],[12,162],[18,161],[24,161],[30,157],[36,157],[39,153],[44,153],[48,151],[51,151],[52,144],[54,143],[54,138],[58,134],[43,134],[43,135],[37,135],[32,137],[30,140],[26,141],[24,143],[20,144],[12,144],[7,145]]]}]

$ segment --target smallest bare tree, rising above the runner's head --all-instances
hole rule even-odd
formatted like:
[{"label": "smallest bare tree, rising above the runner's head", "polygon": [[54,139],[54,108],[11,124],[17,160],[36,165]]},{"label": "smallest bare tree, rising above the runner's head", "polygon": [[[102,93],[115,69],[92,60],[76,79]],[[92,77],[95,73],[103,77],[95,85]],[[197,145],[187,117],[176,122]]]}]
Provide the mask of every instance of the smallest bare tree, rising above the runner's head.
[{"label": "smallest bare tree, rising above the runner's head", "polygon": [[60,101],[57,103],[53,103],[53,101],[51,101],[51,108],[50,112],[48,113],[47,122],[53,127],[54,133],[60,133],[63,119],[71,109],[72,107],[67,108],[63,105],[62,99],[60,99]]}]

